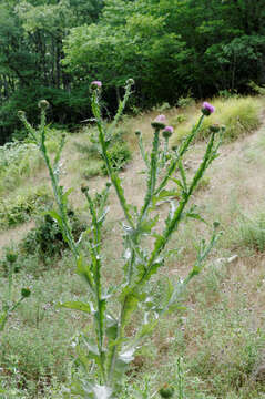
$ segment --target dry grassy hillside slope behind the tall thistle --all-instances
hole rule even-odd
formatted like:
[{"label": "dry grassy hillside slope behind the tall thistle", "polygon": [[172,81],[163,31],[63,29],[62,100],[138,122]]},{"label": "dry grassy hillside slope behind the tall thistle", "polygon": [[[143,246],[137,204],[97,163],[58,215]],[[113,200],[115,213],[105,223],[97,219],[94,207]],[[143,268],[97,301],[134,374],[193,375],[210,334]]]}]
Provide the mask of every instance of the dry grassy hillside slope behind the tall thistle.
[{"label": "dry grassy hillside slope behind the tall thistle", "polygon": [[[221,222],[224,234],[203,273],[183,295],[182,306],[160,323],[139,350],[128,372],[124,399],[135,398],[133,389],[142,391],[140,398],[149,398],[143,393],[146,387],[152,398],[159,398],[157,390],[172,382],[176,389],[184,386],[185,399],[265,398],[265,101],[237,98],[216,99],[213,103],[216,113],[207,122],[226,124],[227,135],[220,157],[193,201],[208,223]],[[171,145],[186,134],[198,109],[200,104],[190,104],[163,111],[175,127]],[[142,131],[149,147],[150,122],[157,113],[161,111],[124,117],[118,129],[119,137],[132,153],[120,176],[133,204],[142,203],[145,184],[134,131]],[[77,236],[88,223],[81,184],[98,191],[108,181],[89,140],[92,132],[93,127],[88,126],[69,134],[62,156],[61,182],[73,187],[71,223]],[[206,125],[201,141],[186,158],[187,171],[194,171],[201,160]],[[61,134],[50,132],[51,154]],[[74,274],[72,255],[63,245],[60,232],[43,217],[43,211],[52,206],[52,195],[43,163],[32,144],[11,145],[1,152],[0,304],[7,298],[10,267],[17,272],[12,298],[19,297],[21,286],[32,290],[0,336],[0,378],[2,387],[9,389],[2,398],[62,398],[62,386],[78,370],[71,341],[80,330],[89,329],[89,323],[82,314],[58,309],[57,304],[85,298],[86,288]],[[104,274],[112,282],[120,277],[122,248],[116,236],[121,231],[115,222],[123,216],[114,193],[109,205]],[[152,282],[157,301],[164,296],[169,278],[174,282],[185,275],[195,259],[195,245],[202,235],[207,236],[208,229],[200,222],[187,222],[175,234],[169,264]],[[49,241],[51,244],[45,246]],[[176,246],[181,247],[179,253],[174,252]],[[175,398],[182,397],[175,392]]]}]

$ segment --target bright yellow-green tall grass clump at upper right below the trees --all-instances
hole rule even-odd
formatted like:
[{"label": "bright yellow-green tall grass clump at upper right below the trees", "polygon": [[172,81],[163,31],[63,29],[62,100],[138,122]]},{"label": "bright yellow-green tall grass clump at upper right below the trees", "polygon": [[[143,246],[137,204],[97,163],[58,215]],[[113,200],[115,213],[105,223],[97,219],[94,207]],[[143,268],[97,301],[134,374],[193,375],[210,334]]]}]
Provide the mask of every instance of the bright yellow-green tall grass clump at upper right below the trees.
[{"label": "bright yellow-green tall grass clump at upper right below the trees", "polygon": [[[226,126],[224,134],[225,142],[232,142],[239,136],[244,136],[253,132],[261,124],[261,101],[257,98],[220,98],[214,99],[212,103],[216,112],[203,121],[202,129],[196,137],[197,140],[206,139],[210,125],[215,123]],[[187,122],[180,124],[173,142],[179,143],[188,134],[198,114],[200,112],[190,117]]]}]

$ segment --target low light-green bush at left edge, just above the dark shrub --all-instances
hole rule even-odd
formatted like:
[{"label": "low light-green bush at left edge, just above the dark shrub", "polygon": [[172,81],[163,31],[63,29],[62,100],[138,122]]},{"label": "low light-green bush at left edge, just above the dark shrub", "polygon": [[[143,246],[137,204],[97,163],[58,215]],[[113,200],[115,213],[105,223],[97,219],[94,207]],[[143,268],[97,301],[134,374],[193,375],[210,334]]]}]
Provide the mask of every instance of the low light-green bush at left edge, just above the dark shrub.
[{"label": "low light-green bush at left edge, just above the dark shrub", "polygon": [[0,201],[0,228],[8,228],[27,222],[30,216],[51,203],[48,187],[40,186],[13,198]]}]

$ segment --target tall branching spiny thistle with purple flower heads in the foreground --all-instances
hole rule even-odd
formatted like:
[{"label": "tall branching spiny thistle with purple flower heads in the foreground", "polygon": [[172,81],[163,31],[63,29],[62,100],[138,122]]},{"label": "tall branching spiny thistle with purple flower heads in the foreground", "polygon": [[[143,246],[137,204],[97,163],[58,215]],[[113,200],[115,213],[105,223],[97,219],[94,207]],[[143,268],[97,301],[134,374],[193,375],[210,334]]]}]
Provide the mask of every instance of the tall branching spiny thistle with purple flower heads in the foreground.
[{"label": "tall branching spiny thistle with purple flower heads in the foreground", "polygon": [[[171,253],[167,243],[177,232],[182,221],[185,218],[202,221],[195,206],[190,206],[188,203],[200,180],[217,156],[223,129],[215,126],[211,130],[204,156],[193,176],[187,176],[183,157],[190,150],[203,119],[214,112],[211,104],[203,104],[202,115],[197,124],[180,146],[174,147],[173,151],[169,146],[169,139],[173,129],[166,126],[164,115],[159,115],[152,122],[154,133],[151,153],[144,146],[142,133],[136,132],[146,178],[143,205],[136,208],[129,203],[121,178],[118,172],[113,170],[108,152],[111,135],[122,115],[132,85],[133,81],[129,80],[116,116],[108,127],[101,114],[102,83],[94,81],[91,84],[93,121],[98,126],[96,142],[110,182],[95,196],[91,194],[88,186],[81,187],[81,192],[88,202],[91,225],[78,242],[73,238],[68,219],[67,209],[70,191],[64,191],[59,182],[60,156],[64,139],[62,139],[54,160],[51,160],[45,146],[45,110],[48,103],[43,100],[39,104],[41,123],[37,130],[31,126],[23,112],[19,113],[22,123],[42,153],[49,170],[57,203],[57,211],[51,211],[50,215],[58,222],[63,238],[73,254],[77,273],[84,278],[88,285],[88,301],[60,304],[61,307],[86,313],[91,327],[80,334],[73,342],[79,362],[82,365],[82,372],[78,374],[77,378],[73,377],[71,387],[65,389],[65,397],[119,398],[123,377],[144,338],[152,334],[159,324],[159,319],[171,311],[180,301],[185,287],[201,272],[208,253],[221,234],[217,231],[218,224],[214,223],[210,241],[207,243],[202,241],[195,264],[186,277],[176,284],[169,282],[166,296],[157,304],[150,289],[151,279],[164,266]],[[173,190],[169,190],[170,184],[171,186],[174,185]],[[105,259],[102,228],[109,211],[106,205],[111,187],[115,192],[124,215],[121,227],[122,258],[124,260],[123,278],[122,282],[115,282],[114,286],[108,285],[103,273]],[[161,202],[169,203],[169,212],[162,232],[161,223],[159,228],[157,213],[155,215],[157,204]],[[84,255],[84,246],[88,248],[89,256]],[[137,325],[132,334],[128,327],[130,324],[132,325],[135,314],[137,315]]]}]

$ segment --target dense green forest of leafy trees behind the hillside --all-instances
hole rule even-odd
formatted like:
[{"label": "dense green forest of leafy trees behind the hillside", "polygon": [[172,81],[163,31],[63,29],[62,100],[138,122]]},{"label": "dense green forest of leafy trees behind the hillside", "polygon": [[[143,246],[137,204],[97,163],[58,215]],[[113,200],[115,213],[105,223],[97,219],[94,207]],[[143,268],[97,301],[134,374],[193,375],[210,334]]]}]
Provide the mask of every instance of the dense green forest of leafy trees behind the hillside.
[{"label": "dense green forest of leafy trees behind the hillside", "polygon": [[89,117],[94,79],[110,115],[128,78],[131,109],[244,93],[265,82],[264,21],[263,0],[0,0],[0,142],[42,98],[55,123]]}]

